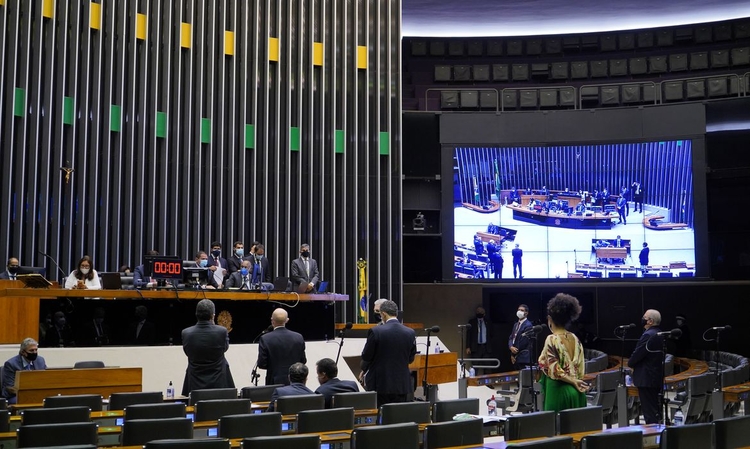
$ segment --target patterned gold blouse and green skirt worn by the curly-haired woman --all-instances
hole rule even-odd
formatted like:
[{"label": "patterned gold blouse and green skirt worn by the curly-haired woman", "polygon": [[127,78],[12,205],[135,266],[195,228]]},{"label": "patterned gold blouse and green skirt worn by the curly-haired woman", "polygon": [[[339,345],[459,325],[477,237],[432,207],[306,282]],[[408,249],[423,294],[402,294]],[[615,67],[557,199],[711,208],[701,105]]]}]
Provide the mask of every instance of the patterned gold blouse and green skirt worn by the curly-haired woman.
[{"label": "patterned gold blouse and green skirt worn by the curly-haired woman", "polygon": [[569,408],[586,407],[586,395],[562,380],[583,379],[583,346],[574,334],[565,332],[549,335],[539,355],[539,369],[542,371],[540,384],[544,394],[545,411],[559,412]]}]

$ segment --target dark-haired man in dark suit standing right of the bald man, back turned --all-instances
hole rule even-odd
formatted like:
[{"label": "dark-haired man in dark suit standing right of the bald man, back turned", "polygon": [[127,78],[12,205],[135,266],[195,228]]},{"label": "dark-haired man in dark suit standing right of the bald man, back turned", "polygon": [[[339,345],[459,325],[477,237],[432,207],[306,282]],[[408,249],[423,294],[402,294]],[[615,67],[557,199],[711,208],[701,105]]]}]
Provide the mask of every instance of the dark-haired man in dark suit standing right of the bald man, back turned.
[{"label": "dark-haired man in dark suit standing right of the bald man, back turned", "polygon": [[406,402],[414,392],[409,364],[417,353],[417,337],[398,321],[398,306],[393,301],[380,305],[382,326],[370,328],[362,349],[360,380],[367,391],[376,391],[378,407],[391,402]]}]

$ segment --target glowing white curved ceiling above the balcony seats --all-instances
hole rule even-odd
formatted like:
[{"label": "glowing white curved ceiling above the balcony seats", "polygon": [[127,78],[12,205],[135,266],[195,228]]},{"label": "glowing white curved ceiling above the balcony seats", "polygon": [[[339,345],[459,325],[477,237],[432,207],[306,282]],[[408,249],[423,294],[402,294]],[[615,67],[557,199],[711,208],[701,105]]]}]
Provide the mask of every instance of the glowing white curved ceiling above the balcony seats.
[{"label": "glowing white curved ceiling above the balcony seats", "polygon": [[750,17],[750,0],[403,0],[404,36],[528,36]]}]

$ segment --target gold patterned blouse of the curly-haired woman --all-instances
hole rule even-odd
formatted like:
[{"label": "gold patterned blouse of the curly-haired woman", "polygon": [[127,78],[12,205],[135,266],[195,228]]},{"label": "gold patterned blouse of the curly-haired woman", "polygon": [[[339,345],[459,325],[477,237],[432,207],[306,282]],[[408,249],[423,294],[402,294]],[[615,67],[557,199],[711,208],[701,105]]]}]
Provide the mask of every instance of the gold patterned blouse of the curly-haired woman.
[{"label": "gold patterned blouse of the curly-haired woman", "polygon": [[583,346],[570,332],[551,334],[539,355],[539,369],[550,379],[583,379],[585,374]]}]

